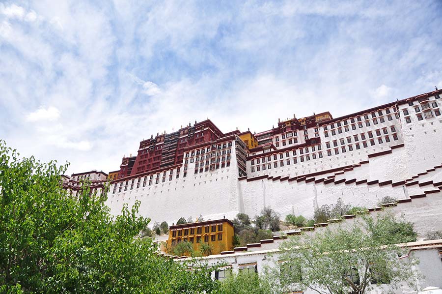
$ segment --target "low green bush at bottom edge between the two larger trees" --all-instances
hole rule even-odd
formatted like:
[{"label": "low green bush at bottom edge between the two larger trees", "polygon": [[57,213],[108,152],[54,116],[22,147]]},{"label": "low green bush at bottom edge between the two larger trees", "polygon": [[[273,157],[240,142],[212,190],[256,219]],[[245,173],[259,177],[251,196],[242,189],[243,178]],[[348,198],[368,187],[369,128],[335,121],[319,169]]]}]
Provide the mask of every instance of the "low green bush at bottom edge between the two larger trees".
[{"label": "low green bush at bottom edge between the two larger trees", "polygon": [[221,294],[268,294],[271,293],[269,281],[257,273],[233,274],[221,281]]}]

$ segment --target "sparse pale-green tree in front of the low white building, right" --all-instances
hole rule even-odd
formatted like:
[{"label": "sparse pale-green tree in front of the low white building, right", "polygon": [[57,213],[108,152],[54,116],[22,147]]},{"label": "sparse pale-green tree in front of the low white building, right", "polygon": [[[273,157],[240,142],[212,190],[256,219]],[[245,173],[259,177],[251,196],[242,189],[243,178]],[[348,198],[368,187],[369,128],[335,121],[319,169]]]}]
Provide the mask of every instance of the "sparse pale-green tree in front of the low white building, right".
[{"label": "sparse pale-green tree in front of the low white building, right", "polygon": [[363,294],[381,283],[413,284],[418,261],[412,256],[400,261],[398,254],[407,249],[394,245],[411,240],[413,225],[403,218],[390,213],[377,218],[363,215],[349,227],[337,224],[313,235],[290,237],[280,246],[278,258],[284,262],[271,276],[285,291],[296,282],[302,289],[331,294]]}]

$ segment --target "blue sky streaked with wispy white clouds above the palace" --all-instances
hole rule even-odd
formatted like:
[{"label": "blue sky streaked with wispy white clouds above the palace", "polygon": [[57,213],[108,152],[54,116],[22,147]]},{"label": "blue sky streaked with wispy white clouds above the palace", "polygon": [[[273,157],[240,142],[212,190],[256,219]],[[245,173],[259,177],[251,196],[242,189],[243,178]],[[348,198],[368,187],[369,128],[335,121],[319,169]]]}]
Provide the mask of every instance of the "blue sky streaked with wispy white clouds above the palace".
[{"label": "blue sky streaked with wispy white clouds above the palace", "polygon": [[386,2],[0,1],[0,139],[108,172],[195,119],[259,132],[442,88],[442,2]]}]

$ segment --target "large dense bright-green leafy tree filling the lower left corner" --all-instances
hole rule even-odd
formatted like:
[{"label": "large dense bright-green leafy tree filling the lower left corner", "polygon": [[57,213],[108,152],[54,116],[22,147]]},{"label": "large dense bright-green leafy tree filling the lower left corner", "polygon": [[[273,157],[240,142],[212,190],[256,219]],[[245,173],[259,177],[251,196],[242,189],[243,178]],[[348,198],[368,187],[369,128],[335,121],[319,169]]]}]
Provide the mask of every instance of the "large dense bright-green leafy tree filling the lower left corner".
[{"label": "large dense bright-green leafy tree filling the lower left corner", "polygon": [[18,159],[0,141],[1,293],[214,293],[210,270],[188,272],[138,238],[138,206],[112,217],[106,193],[61,187],[66,166]]}]

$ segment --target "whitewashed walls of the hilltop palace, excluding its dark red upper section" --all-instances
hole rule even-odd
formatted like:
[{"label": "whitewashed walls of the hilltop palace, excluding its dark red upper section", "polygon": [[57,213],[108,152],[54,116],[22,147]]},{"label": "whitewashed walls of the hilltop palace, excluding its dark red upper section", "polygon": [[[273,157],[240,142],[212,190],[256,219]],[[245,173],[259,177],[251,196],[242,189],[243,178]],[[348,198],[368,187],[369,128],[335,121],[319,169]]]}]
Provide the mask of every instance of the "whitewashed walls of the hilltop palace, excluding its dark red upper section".
[{"label": "whitewashed walls of the hilltop palace, excluding its dark red upper section", "polygon": [[[442,181],[442,168],[438,167],[442,164],[442,116],[419,120],[421,110],[417,113],[414,110],[428,102],[436,114],[437,107],[442,109],[441,100],[430,96],[425,101],[414,100],[414,105],[398,104],[398,113],[391,105],[380,107],[368,115],[358,115],[362,126],[359,127],[359,120],[354,120],[346,131],[343,121],[350,122],[349,118],[340,120],[342,126],[335,120],[314,128],[315,131],[310,128],[308,136],[320,139],[314,148],[303,146],[291,150],[285,146],[281,151],[249,154],[252,159],[246,161],[247,176],[240,178],[234,151],[230,166],[219,170],[193,174],[195,163],[190,163],[187,176],[183,177],[183,165],[175,166],[172,180],[121,192],[114,192],[111,187],[107,205],[111,213],[118,214],[124,203],[130,207],[139,200],[139,213],[150,217],[151,224],[164,220],[171,224],[180,217],[195,219],[200,214],[206,220],[224,216],[233,219],[238,212],[253,217],[264,207],[275,209],[282,219],[289,213],[310,218],[315,207],[334,204],[338,198],[362,207],[374,207],[385,196],[409,199],[438,189],[432,185],[430,188],[429,181]],[[353,129],[352,124],[358,127]],[[342,131],[338,132],[338,127]],[[331,130],[336,130],[334,135]],[[362,142],[367,142],[367,147]],[[233,140],[233,150],[235,144]],[[259,163],[258,156],[261,156]],[[257,166],[261,167],[260,171]],[[118,180],[115,183],[117,190],[120,183]]]}]

